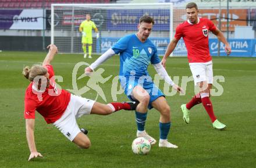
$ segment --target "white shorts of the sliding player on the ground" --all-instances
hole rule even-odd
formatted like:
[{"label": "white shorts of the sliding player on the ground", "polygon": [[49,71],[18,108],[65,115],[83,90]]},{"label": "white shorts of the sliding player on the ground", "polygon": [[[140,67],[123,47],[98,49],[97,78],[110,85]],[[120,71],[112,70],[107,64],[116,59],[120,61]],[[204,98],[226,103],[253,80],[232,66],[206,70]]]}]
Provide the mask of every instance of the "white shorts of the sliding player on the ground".
[{"label": "white shorts of the sliding player on the ground", "polygon": [[71,95],[69,105],[67,105],[61,118],[53,123],[54,126],[70,141],[73,141],[76,135],[81,132],[76,119],[83,115],[90,115],[94,103],[95,101],[90,99]]}]

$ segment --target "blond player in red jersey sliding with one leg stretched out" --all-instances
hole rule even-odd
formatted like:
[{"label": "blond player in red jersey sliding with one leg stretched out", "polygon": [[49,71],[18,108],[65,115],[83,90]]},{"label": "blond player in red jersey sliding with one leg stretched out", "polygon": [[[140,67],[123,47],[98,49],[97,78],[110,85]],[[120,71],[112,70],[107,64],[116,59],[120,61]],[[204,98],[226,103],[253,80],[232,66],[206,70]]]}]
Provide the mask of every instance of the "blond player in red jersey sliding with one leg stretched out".
[{"label": "blond player in red jersey sliding with one leg stretched out", "polygon": [[50,65],[58,49],[51,44],[42,65],[24,67],[23,75],[29,79],[24,98],[24,118],[26,119],[26,135],[29,144],[29,160],[42,157],[37,152],[34,140],[35,110],[42,115],[48,124],[54,124],[62,134],[80,148],[89,148],[91,142],[86,134],[77,126],[76,119],[83,115],[110,115],[118,110],[134,110],[135,102],[109,103],[108,105],[90,99],[72,95],[66,90],[56,87],[54,69]]}]

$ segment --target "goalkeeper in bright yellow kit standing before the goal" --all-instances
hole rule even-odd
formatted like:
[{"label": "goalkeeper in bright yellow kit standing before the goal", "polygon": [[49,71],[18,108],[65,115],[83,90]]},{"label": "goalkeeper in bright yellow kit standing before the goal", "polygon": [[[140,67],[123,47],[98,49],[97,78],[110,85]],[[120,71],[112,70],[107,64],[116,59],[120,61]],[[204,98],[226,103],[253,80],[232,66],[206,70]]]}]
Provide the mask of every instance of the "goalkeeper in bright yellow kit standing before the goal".
[{"label": "goalkeeper in bright yellow kit standing before the goal", "polygon": [[91,44],[93,44],[93,28],[95,33],[97,33],[97,38],[99,38],[99,33],[98,33],[98,28],[96,27],[95,23],[91,21],[91,15],[86,14],[86,20],[84,20],[79,27],[79,31],[83,34],[82,37],[82,44],[83,44],[83,51],[84,51],[84,58],[87,56],[87,44],[88,44],[88,54],[89,57],[91,58]]}]

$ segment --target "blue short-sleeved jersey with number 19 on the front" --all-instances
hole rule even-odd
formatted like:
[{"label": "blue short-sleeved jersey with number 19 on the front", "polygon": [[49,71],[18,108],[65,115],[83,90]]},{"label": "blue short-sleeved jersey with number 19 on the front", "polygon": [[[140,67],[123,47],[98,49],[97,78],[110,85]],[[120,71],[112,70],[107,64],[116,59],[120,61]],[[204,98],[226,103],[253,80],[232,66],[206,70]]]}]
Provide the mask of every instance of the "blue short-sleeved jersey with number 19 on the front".
[{"label": "blue short-sleeved jersey with number 19 on the front", "polygon": [[112,49],[120,53],[120,76],[129,77],[131,71],[135,77],[148,76],[148,65],[161,62],[155,45],[148,39],[141,42],[136,34],[120,38]]}]

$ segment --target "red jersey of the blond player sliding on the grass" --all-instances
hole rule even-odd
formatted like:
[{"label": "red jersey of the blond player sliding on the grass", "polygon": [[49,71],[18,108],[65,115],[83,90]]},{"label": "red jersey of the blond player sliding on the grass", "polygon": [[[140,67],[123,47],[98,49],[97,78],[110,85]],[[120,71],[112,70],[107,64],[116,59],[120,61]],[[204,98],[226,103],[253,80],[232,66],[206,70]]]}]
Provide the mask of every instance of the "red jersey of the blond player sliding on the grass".
[{"label": "red jersey of the blond player sliding on the grass", "polygon": [[54,123],[65,112],[70,101],[70,93],[56,87],[54,69],[51,65],[46,66],[50,84],[45,91],[37,91],[33,82],[29,84],[25,93],[24,118],[34,119],[35,110],[40,113],[47,123]]}]

